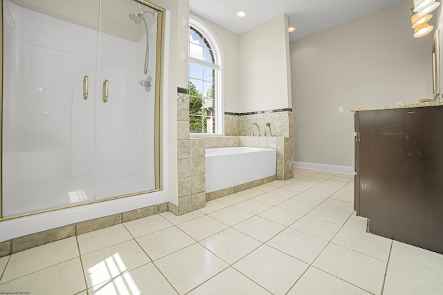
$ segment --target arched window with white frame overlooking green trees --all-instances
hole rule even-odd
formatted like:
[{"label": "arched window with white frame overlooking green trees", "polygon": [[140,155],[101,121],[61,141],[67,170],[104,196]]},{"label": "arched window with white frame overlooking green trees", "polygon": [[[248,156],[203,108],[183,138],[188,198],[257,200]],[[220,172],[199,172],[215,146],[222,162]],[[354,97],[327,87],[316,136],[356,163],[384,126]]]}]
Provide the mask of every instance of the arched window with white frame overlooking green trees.
[{"label": "arched window with white frame overlooking green trees", "polygon": [[222,53],[215,34],[196,17],[189,20],[190,133],[224,133]]}]

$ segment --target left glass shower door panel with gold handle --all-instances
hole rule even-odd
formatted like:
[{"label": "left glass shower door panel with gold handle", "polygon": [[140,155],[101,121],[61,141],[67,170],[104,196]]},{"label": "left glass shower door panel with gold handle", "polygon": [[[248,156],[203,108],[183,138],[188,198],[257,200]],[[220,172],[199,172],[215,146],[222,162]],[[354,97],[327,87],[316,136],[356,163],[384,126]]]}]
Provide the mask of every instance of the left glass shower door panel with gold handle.
[{"label": "left glass shower door panel with gold handle", "polygon": [[99,3],[78,4],[3,0],[3,218],[95,200]]}]

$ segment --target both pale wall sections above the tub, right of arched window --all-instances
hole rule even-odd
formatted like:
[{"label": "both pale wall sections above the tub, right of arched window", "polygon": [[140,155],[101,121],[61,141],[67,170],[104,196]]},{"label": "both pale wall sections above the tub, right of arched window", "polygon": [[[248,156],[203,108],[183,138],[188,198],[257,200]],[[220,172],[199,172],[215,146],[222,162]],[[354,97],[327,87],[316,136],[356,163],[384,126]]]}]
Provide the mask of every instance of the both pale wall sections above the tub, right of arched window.
[{"label": "both pale wall sections above the tub, right of arched window", "polygon": [[224,53],[224,111],[245,113],[291,108],[286,15],[242,35],[195,16],[213,30]]}]

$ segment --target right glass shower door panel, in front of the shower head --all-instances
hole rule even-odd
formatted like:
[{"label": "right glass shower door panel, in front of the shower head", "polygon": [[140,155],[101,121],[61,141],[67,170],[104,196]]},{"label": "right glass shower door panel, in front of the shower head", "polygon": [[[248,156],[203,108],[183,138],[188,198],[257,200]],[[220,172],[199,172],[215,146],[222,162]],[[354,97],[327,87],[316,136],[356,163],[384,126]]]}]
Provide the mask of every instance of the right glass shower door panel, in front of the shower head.
[{"label": "right glass shower door panel, in front of the shower head", "polygon": [[[156,10],[102,1],[98,44],[98,200],[156,189]],[[148,39],[147,39],[148,38]]]}]

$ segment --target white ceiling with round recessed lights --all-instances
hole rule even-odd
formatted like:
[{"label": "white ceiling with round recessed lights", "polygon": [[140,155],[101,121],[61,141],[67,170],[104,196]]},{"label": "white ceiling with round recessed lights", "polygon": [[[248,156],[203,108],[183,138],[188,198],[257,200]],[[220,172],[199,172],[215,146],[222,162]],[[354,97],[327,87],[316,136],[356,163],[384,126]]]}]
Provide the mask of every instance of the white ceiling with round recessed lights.
[{"label": "white ceiling with round recessed lights", "polygon": [[[285,13],[296,32],[289,41],[356,19],[404,0],[190,0],[190,11],[239,35]],[[410,0],[413,7],[413,0]],[[246,17],[236,13],[246,11]]]}]

